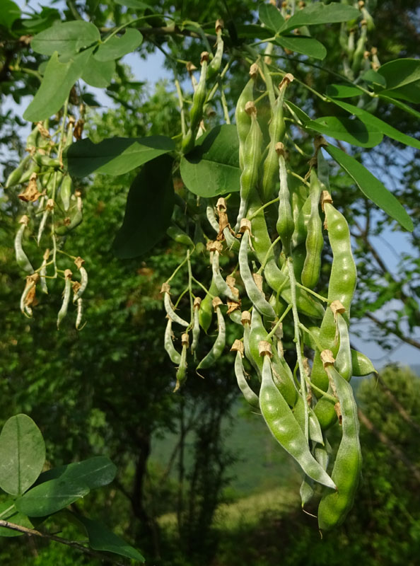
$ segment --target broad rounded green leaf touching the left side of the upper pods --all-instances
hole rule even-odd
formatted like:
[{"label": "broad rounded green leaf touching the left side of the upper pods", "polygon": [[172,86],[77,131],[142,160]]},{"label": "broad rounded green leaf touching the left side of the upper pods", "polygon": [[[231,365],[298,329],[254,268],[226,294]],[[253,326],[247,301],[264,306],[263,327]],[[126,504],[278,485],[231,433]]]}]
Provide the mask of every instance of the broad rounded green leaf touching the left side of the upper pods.
[{"label": "broad rounded green leaf touching the left side of the upper pods", "polygon": [[216,197],[240,190],[239,141],[236,126],[211,129],[181,159],[181,177],[194,195]]}]

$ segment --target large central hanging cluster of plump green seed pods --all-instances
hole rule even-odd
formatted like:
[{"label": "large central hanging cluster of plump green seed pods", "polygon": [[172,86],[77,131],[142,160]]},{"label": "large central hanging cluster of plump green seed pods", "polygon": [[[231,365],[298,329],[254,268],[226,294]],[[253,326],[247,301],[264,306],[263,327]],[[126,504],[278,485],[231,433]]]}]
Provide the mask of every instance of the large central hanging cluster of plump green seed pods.
[{"label": "large central hanging cluster of plump green seed pods", "polygon": [[[267,90],[272,88],[269,122],[264,125],[268,144],[254,100],[259,75]],[[202,72],[200,83],[204,83],[203,76]],[[214,238],[206,241],[209,289],[192,273],[191,245],[185,260],[163,284],[168,318],[165,350],[177,366],[177,391],[187,378],[187,364],[190,374],[195,370],[205,376],[207,369],[217,371],[218,359],[230,348],[240,391],[301,467],[302,506],[315,492],[320,497],[318,524],[327,530],[344,521],[361,477],[357,408],[349,380],[370,374],[374,368],[366,356],[350,347],[356,266],[349,226],[329,192],[329,164],[322,154],[325,141],[315,139],[305,178],[289,168],[293,144],[284,120],[284,103],[292,81],[293,76],[285,74],[276,88],[264,77],[264,64],[252,64],[250,81],[235,110],[240,204],[230,210],[223,197],[215,208],[207,204],[206,216],[214,229]],[[198,91],[199,87],[195,93]],[[198,105],[196,94],[193,104]],[[197,133],[196,114],[194,127],[185,134],[187,148],[191,135]],[[292,178],[298,178],[298,183],[291,183]],[[317,287],[325,238],[332,250],[332,265],[327,296],[322,296]],[[220,262],[223,255],[235,255],[238,262],[225,277]],[[188,283],[174,304],[170,282],[182,267]],[[183,313],[181,299],[187,292],[189,312]],[[209,330],[213,318],[214,343],[198,359],[200,336]],[[228,324],[238,325],[242,335],[233,344],[226,343]],[[284,336],[284,328],[292,329],[290,336]],[[285,338],[295,347],[296,366],[286,362]],[[341,439],[331,446],[328,430],[337,422]]]}]

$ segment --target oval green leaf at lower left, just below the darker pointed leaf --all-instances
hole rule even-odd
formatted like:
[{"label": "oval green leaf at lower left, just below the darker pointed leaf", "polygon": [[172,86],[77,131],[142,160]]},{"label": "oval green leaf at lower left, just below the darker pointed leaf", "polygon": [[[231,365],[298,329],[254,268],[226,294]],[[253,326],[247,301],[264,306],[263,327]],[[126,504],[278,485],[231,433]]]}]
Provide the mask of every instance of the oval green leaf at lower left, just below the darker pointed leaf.
[{"label": "oval green leaf at lower left, just below the darker pointed leaf", "polygon": [[43,517],[57,513],[67,505],[88,494],[87,485],[62,478],[36,485],[15,501],[16,509],[30,517]]}]

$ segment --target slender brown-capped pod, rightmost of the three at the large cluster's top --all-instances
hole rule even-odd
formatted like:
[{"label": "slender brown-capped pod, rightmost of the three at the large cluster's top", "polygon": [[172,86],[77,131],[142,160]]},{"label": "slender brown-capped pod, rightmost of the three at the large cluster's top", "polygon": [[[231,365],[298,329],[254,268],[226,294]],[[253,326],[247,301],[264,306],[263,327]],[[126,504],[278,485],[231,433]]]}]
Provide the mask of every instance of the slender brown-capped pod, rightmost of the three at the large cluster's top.
[{"label": "slender brown-capped pod, rightmost of the three at the large cluster's top", "polygon": [[276,152],[276,144],[283,141],[286,133],[286,125],[283,115],[283,101],[286,87],[293,81],[293,75],[288,73],[279,85],[279,96],[272,109],[272,120],[269,124],[270,143],[267,157],[264,160],[262,175],[262,202],[272,200],[276,192],[276,185],[279,179],[279,156]]}]

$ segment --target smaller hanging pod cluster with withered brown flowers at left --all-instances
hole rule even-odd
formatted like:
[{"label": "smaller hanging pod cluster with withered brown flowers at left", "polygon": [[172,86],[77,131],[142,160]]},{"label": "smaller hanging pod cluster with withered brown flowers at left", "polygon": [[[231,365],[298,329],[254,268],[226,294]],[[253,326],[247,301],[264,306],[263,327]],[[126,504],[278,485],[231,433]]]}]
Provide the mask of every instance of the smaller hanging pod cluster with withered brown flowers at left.
[{"label": "smaller hanging pod cluster with withered brown flowers at left", "polygon": [[[18,220],[14,242],[16,262],[26,273],[21,311],[25,316],[33,316],[37,289],[47,294],[49,280],[63,279],[57,328],[71,303],[76,309],[76,328],[81,328],[82,294],[88,284],[84,260],[62,250],[66,235],[81,223],[83,217],[81,191],[74,187],[62,158],[63,151],[73,143],[73,138],[81,138],[83,114],[84,108],[81,109],[81,118],[76,122],[73,116],[67,118],[64,112],[61,120],[54,122],[56,130],[53,132],[50,131],[49,120],[38,122],[26,140],[28,155],[8,175],[5,183],[8,191],[18,192],[24,209],[24,214]],[[33,257],[28,257],[25,248],[33,240],[37,244],[37,251]],[[76,277],[69,267],[76,269]]]}]

